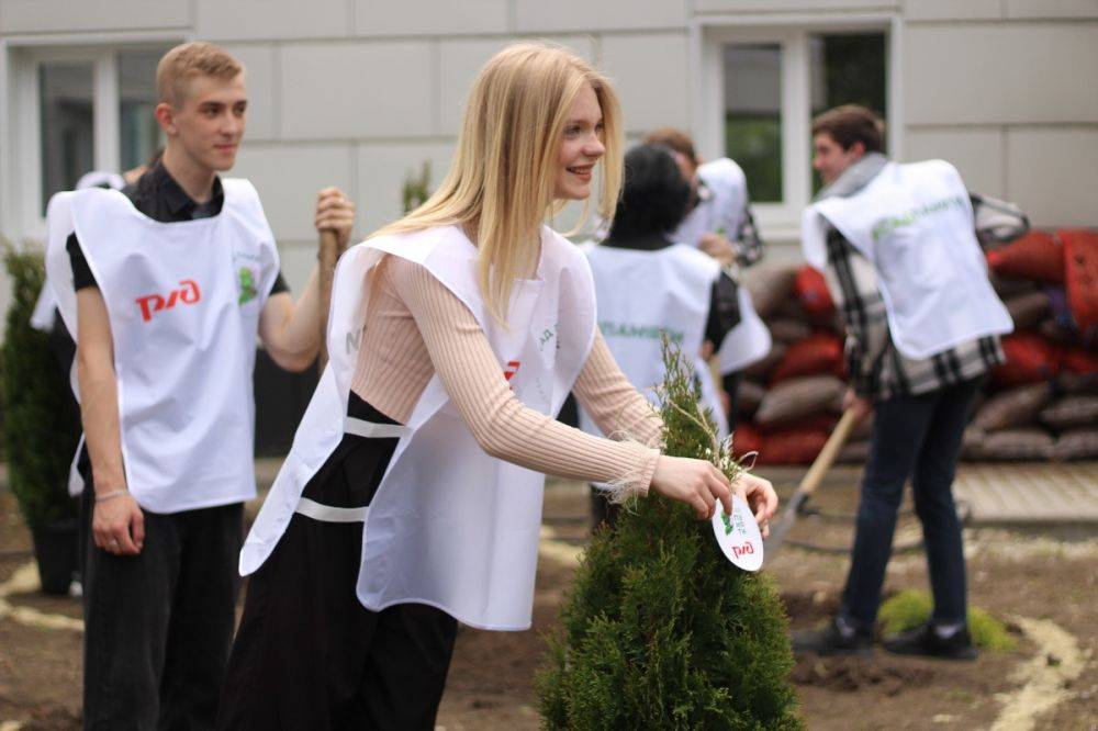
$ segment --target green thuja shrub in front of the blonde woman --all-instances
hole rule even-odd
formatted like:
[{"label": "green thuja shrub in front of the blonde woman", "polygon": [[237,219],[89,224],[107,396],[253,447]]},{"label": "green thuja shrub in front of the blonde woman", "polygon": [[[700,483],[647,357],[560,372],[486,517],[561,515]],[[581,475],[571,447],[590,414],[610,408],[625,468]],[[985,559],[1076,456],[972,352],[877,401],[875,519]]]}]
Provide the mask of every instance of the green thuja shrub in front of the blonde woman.
[{"label": "green thuja shrub in front of the blonde woman", "polygon": [[[740,470],[664,340],[665,453]],[[737,569],[708,521],[654,492],[596,531],[537,678],[547,729],[802,729],[786,619],[769,576]]]}]

